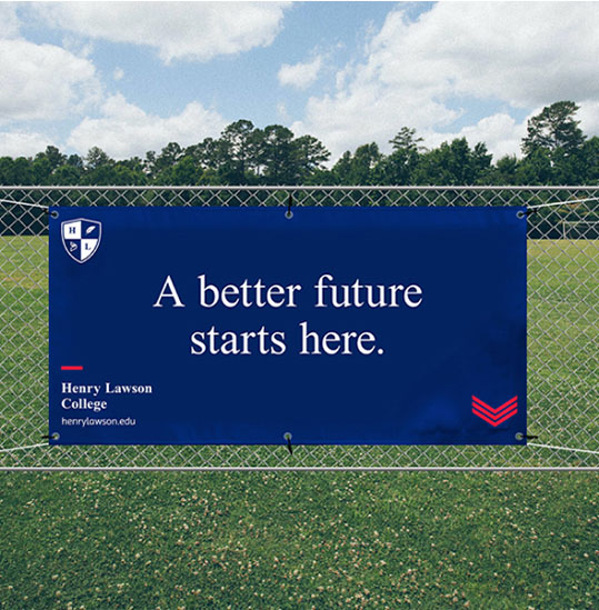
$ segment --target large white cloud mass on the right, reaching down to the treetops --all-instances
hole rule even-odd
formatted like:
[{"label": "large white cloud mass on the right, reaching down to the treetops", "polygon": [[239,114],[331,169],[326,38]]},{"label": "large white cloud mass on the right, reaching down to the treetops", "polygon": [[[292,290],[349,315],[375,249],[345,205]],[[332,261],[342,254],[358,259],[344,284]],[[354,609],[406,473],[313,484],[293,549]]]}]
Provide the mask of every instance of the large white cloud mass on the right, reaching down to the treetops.
[{"label": "large white cloud mass on the right, reaching down to the treetops", "polygon": [[593,2],[440,2],[415,22],[399,8],[362,61],[338,72],[336,92],[311,98],[292,129],[317,134],[336,158],[386,144],[402,126],[432,141],[460,117],[453,108],[483,100],[506,110],[459,133],[493,139],[496,154],[518,152],[522,126],[509,108],[599,100],[598,31]]}]

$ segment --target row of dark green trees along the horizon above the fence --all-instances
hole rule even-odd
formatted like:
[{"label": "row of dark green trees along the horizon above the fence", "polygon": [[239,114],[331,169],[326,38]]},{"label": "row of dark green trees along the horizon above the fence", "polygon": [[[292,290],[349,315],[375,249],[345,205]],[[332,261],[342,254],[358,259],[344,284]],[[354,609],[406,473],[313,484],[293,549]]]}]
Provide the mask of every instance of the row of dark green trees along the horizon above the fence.
[{"label": "row of dark green trees along the horizon above the fence", "polygon": [[376,142],[345,152],[327,168],[330,152],[317,138],[296,138],[280,124],[259,129],[249,120],[229,124],[218,139],[181,147],[170,142],[143,159],[116,161],[98,147],[64,154],[49,146],[34,157],[1,157],[2,186],[475,186],[597,184],[599,138],[587,137],[579,107],[559,101],[527,124],[520,158],[493,162],[485,142],[466,138],[433,149],[415,129],[402,127],[383,154]]}]

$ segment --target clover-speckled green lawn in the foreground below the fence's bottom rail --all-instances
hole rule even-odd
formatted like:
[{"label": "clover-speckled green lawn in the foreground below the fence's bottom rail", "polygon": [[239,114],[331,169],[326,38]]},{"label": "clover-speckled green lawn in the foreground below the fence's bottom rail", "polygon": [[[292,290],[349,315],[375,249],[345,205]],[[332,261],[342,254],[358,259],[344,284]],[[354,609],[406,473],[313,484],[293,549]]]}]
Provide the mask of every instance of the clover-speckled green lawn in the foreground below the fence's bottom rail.
[{"label": "clover-speckled green lawn in the foreground below the fence's bottom rail", "polygon": [[598,482],[4,473],[0,607],[596,608]]}]

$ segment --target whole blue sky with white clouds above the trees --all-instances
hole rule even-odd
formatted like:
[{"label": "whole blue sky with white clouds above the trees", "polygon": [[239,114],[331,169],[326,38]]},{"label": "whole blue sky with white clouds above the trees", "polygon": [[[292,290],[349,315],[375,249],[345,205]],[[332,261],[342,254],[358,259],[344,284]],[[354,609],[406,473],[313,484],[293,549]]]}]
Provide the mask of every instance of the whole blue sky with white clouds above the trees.
[{"label": "whole blue sky with white clouds above the trees", "polygon": [[331,151],[415,128],[519,154],[573,100],[599,134],[597,2],[0,2],[0,156],[144,157],[229,123]]}]

